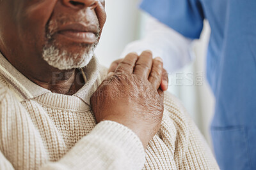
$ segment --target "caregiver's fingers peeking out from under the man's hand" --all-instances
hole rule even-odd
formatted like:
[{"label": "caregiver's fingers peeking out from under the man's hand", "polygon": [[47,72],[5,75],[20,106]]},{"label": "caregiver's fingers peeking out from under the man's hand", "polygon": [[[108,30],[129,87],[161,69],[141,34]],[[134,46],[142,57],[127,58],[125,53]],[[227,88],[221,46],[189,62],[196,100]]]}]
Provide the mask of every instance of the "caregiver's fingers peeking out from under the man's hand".
[{"label": "caregiver's fingers peeking out from under the man's hand", "polygon": [[[120,64],[120,62],[122,62],[122,60],[124,60],[124,59],[118,59],[111,63],[111,65],[108,69],[108,76],[112,76],[115,73],[118,64]],[[168,89],[168,74],[164,68],[162,71],[162,80],[161,80],[160,88],[163,91],[166,91]]]}]

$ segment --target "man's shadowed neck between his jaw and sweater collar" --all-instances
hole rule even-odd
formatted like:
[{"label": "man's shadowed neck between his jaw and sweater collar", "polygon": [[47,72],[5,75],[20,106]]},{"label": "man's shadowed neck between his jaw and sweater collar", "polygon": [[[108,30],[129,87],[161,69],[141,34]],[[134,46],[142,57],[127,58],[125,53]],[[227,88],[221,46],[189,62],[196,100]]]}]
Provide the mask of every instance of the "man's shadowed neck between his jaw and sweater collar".
[{"label": "man's shadowed neck between his jaw and sweater collar", "polygon": [[[3,56],[5,57],[7,55],[3,53]],[[29,80],[51,92],[73,95],[81,89],[85,83],[83,74],[79,69],[59,70],[49,66],[44,60],[36,60],[35,57],[28,57],[30,60],[30,62],[28,62],[26,57],[21,56],[21,59],[26,60],[26,62],[24,62],[26,63],[25,65],[15,57],[5,58]]]}]

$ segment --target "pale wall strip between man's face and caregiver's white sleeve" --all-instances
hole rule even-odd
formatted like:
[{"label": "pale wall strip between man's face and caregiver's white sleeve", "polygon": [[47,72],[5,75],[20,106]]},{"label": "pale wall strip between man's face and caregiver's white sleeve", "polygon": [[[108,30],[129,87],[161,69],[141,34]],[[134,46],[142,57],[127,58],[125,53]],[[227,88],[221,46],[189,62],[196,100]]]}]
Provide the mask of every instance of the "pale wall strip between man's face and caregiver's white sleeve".
[{"label": "pale wall strip between man's face and caregiver's white sleeve", "polygon": [[107,21],[96,55],[100,63],[109,66],[127,43],[138,38],[140,13],[138,0],[106,0]]}]

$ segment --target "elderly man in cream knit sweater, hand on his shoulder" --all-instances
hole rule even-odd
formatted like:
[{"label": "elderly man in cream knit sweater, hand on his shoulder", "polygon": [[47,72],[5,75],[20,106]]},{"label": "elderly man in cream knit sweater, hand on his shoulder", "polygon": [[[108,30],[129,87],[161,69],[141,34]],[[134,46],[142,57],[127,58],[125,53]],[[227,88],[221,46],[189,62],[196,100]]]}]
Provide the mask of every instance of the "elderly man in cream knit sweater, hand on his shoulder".
[{"label": "elderly man in cream knit sweater, hand on his shoulder", "polygon": [[104,0],[0,2],[0,169],[218,169],[163,100],[161,59],[130,53],[104,80]]}]

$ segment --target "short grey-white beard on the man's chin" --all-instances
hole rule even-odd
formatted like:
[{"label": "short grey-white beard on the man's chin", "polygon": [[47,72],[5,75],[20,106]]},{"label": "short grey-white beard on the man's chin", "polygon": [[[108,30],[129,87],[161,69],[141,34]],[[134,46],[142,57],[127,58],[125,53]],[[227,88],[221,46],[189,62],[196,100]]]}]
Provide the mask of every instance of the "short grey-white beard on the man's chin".
[{"label": "short grey-white beard on the man's chin", "polygon": [[60,50],[55,46],[45,47],[43,50],[43,59],[52,67],[60,70],[76,69],[88,65],[94,54],[92,46],[88,52],[68,52]]}]

